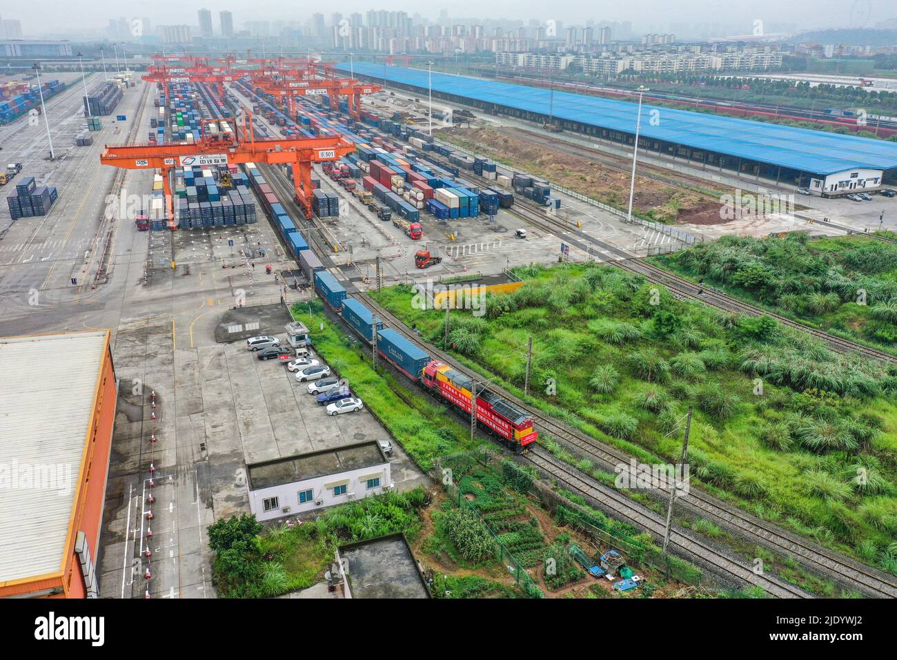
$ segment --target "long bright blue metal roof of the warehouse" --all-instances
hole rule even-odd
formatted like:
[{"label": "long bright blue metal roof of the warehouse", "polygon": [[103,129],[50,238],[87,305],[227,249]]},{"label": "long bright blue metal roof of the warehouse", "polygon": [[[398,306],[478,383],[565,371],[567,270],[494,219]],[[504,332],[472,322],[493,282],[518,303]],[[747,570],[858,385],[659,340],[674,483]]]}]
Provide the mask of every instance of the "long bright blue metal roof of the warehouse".
[{"label": "long bright blue metal roof of the warehouse", "polygon": [[[344,72],[350,66],[337,66]],[[399,66],[357,62],[353,72],[374,80],[391,81],[427,90],[427,71]],[[494,103],[505,108],[549,115],[549,90],[499,83],[463,75],[432,74],[434,93]],[[587,126],[634,133],[637,103],[613,101],[571,92],[553,92],[554,119]],[[652,125],[651,110],[658,110]],[[768,163],[797,172],[834,174],[858,168],[888,170],[897,167],[897,143],[867,137],[825,133],[748,119],[674,110],[645,104],[640,137],[686,145],[692,149],[727,154],[739,159]]]}]

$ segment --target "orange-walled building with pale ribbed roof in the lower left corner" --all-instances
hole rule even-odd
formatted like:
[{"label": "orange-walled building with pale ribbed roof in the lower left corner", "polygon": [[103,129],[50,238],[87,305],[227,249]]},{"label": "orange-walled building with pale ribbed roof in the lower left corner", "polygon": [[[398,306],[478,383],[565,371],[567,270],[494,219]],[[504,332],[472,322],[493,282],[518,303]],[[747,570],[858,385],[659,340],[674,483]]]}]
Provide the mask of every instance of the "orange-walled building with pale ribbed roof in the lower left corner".
[{"label": "orange-walled building with pale ribbed roof in the lower left corner", "polygon": [[0,339],[0,597],[96,598],[109,330]]}]

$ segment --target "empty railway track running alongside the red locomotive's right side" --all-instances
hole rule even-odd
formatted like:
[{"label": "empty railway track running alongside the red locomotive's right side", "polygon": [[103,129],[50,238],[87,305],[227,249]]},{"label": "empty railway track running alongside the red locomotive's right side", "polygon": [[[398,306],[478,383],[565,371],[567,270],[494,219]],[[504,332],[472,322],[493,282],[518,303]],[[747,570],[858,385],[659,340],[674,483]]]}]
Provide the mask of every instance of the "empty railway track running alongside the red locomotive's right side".
[{"label": "empty railway track running alongside the red locomotive's right side", "polygon": [[[454,368],[475,380],[483,380],[480,374],[476,374],[464,365],[458,365],[457,360],[448,355],[448,353],[423,342],[411,330],[408,330],[395,314],[374,301],[370,295],[363,292],[358,292],[354,295],[371,310],[376,310],[378,315],[384,321],[387,321],[391,327],[403,333],[405,337],[411,339],[414,343],[421,345],[422,348],[429,351],[432,355],[438,356],[441,360],[448,362]],[[539,430],[547,431],[562,441],[563,444],[567,444],[573,451],[582,454],[593,462],[597,462],[605,470],[613,473],[617,466],[620,465],[626,466],[624,469],[629,470],[630,455],[560,424],[542,411],[529,406],[526,402],[519,400],[516,396],[495,384],[491,384],[490,389],[499,393],[502,397],[513,401],[520,408],[525,409],[536,420]],[[595,488],[598,487],[596,486]],[[661,490],[668,494],[666,488],[661,488]],[[625,497],[616,493],[616,491],[614,493],[615,497]],[[695,515],[707,518],[715,524],[720,524],[736,533],[759,541],[762,545],[779,554],[790,555],[814,573],[832,577],[841,585],[849,588],[860,588],[869,595],[882,598],[897,598],[897,580],[894,578],[887,576],[881,571],[866,567],[858,561],[840,555],[838,552],[801,539],[797,534],[749,515],[737,507],[719,500],[717,497],[712,497],[697,488],[691,488],[688,495],[677,497],[677,499],[681,506],[687,506]]]}]

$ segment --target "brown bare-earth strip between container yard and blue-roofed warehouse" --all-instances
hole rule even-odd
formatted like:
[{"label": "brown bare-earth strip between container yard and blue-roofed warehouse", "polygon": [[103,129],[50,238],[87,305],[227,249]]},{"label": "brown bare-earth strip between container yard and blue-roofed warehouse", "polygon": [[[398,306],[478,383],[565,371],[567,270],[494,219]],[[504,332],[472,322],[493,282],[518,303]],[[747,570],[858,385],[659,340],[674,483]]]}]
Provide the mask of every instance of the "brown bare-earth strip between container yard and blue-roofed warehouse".
[{"label": "brown bare-earth strip between container yard and blue-roofed warehouse", "polygon": [[[624,208],[629,203],[630,172],[625,169],[609,167],[587,156],[553,149],[496,128],[448,128],[437,133],[442,139],[475,150],[494,161],[514,163],[525,172],[610,206]],[[723,222],[717,200],[638,174],[632,207],[659,222]]]}]

